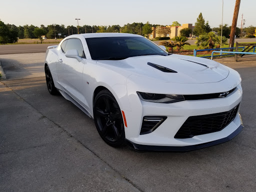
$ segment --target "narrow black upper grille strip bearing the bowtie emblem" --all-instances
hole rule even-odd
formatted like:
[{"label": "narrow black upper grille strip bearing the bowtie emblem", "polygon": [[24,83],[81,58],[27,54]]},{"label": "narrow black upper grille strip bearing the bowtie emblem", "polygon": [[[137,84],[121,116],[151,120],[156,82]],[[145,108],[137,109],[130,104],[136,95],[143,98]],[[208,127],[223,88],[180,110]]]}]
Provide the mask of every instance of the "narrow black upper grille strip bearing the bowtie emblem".
[{"label": "narrow black upper grille strip bearing the bowtie emblem", "polygon": [[[217,92],[217,93],[209,93],[209,94],[184,94],[185,100],[201,100],[201,99],[211,99],[211,98],[218,98],[218,97],[225,97],[231,92],[235,90],[236,87],[232,88],[226,92]],[[223,94],[223,96],[220,96]]]}]

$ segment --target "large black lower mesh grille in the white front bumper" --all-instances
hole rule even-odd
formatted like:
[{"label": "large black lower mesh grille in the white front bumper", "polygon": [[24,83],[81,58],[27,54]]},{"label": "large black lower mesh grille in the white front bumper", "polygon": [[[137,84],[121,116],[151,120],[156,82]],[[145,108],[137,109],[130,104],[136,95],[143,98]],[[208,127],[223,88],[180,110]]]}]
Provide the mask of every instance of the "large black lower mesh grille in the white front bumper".
[{"label": "large black lower mesh grille in the white front bumper", "polygon": [[191,138],[194,135],[222,130],[234,119],[238,106],[239,104],[226,112],[189,116],[179,128],[174,138]]}]

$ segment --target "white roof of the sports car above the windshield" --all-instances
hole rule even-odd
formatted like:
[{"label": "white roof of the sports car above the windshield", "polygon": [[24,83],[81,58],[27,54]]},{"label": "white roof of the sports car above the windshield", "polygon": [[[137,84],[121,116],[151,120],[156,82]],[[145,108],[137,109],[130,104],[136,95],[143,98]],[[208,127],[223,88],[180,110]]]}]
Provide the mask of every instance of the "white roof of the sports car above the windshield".
[{"label": "white roof of the sports car above the windshield", "polygon": [[[130,33],[117,33],[117,32],[98,32],[98,33],[82,33],[82,34],[72,34],[68,37],[81,37],[84,38],[93,38],[93,37],[112,37],[112,36],[141,36],[138,34],[130,34]],[[142,36],[141,36],[142,37]]]}]

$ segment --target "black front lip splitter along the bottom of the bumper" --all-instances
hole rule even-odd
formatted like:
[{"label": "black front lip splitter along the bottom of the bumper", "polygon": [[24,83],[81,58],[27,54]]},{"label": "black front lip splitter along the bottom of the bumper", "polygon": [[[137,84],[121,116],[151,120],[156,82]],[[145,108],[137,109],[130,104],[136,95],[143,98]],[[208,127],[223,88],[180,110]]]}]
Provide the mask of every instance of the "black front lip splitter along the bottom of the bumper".
[{"label": "black front lip splitter along the bottom of the bumper", "polygon": [[196,150],[196,149],[200,149],[200,148],[204,148],[204,147],[208,147],[208,146],[212,146],[212,145],[216,145],[216,144],[220,144],[223,142],[227,142],[229,140],[231,140],[233,137],[235,137],[237,134],[239,134],[242,129],[243,129],[243,125],[240,125],[234,132],[232,132],[231,134],[229,134],[227,137],[218,139],[218,140],[213,140],[210,142],[206,142],[206,143],[201,143],[201,144],[195,144],[195,145],[188,145],[188,146],[157,146],[157,145],[143,145],[143,144],[136,144],[133,143],[129,140],[127,141],[127,144],[129,146],[131,146],[132,148],[136,149],[136,150],[147,150],[147,151],[176,151],[176,152],[185,152],[185,151],[190,151],[190,150]]}]

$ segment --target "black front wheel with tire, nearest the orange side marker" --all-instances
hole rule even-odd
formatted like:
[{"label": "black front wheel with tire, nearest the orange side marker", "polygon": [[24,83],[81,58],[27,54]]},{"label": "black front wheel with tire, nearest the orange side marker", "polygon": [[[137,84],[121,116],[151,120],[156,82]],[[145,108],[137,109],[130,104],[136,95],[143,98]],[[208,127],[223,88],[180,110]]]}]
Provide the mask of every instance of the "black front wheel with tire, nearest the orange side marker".
[{"label": "black front wheel with tire, nearest the orange side marker", "polygon": [[125,142],[121,110],[108,90],[101,90],[94,99],[93,116],[97,131],[110,146],[118,147]]}]

